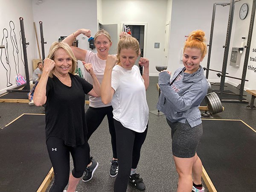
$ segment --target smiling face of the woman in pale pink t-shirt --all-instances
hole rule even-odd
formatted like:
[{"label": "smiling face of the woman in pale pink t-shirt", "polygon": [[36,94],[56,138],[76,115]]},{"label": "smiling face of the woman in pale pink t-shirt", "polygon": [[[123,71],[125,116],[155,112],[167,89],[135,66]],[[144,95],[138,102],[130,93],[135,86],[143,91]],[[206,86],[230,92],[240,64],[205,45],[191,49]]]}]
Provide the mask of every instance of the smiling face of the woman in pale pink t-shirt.
[{"label": "smiling face of the woman in pale pink t-shirt", "polygon": [[97,49],[99,58],[107,59],[112,42],[106,37],[106,35],[99,35],[95,39],[94,44]]}]

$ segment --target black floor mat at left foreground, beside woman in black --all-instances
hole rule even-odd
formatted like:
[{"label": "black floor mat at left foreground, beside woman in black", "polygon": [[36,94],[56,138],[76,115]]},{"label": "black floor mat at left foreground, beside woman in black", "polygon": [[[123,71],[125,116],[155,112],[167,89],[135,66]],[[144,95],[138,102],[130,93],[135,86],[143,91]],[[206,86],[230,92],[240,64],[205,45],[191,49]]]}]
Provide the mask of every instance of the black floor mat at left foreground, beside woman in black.
[{"label": "black floor mat at left foreground, beside woman in black", "polygon": [[36,192],[52,164],[45,144],[45,116],[23,114],[0,130],[0,191]]}]

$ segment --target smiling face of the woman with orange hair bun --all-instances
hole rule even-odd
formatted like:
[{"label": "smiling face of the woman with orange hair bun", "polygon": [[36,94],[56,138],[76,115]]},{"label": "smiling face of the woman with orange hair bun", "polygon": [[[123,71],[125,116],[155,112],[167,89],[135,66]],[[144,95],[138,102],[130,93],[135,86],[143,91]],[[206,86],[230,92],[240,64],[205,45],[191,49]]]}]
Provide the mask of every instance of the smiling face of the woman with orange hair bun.
[{"label": "smiling face of the woman with orange hair bun", "polygon": [[195,73],[199,69],[200,62],[203,61],[201,50],[187,47],[184,50],[182,61],[186,67],[185,73]]}]

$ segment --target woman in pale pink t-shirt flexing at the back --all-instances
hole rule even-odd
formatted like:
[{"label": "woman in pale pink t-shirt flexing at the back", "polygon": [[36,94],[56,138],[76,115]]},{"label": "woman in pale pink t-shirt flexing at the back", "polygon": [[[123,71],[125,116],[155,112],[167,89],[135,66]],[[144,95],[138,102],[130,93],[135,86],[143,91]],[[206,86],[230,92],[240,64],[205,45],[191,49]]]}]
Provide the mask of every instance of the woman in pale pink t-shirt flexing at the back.
[{"label": "woman in pale pink t-shirt flexing at the back", "polygon": [[[106,66],[106,59],[108,56],[109,49],[112,45],[111,37],[107,31],[104,29],[99,30],[94,36],[94,44],[97,52],[94,53],[90,50],[81,49],[79,47],[73,47],[73,41],[76,40],[76,37],[80,34],[91,37],[91,31],[89,29],[78,29],[76,32],[73,32],[71,35],[67,36],[63,42],[66,42],[71,46],[71,49],[75,55],[75,57],[82,61],[83,64],[91,63],[93,67],[93,71],[99,80],[99,83],[102,82],[103,74]],[[84,71],[85,77],[84,79],[89,83],[93,84],[93,79],[87,71]],[[99,127],[102,120],[105,116],[108,117],[108,127],[109,132],[111,134],[111,144],[113,151],[113,158],[111,160],[111,169],[109,175],[111,177],[115,177],[118,172],[118,161],[117,161],[117,153],[116,153],[116,133],[113,123],[113,108],[111,106],[111,102],[106,104],[102,103],[100,97],[89,96],[90,106],[86,111],[86,122],[88,128],[87,139],[89,140],[90,136],[94,131]],[[90,157],[90,156],[89,156]],[[93,173],[98,167],[99,163],[96,160],[93,160],[92,157],[89,160],[90,164],[87,166],[85,170],[85,174],[83,177],[83,181],[87,182],[92,179]]]}]

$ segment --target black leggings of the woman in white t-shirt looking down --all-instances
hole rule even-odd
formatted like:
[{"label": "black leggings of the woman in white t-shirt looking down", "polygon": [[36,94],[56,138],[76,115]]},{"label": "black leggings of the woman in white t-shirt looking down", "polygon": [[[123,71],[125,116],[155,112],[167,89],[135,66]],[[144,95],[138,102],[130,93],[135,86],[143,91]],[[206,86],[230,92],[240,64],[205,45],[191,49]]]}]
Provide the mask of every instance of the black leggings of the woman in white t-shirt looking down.
[{"label": "black leggings of the woman in white t-shirt looking down", "polygon": [[136,169],[140,160],[140,149],[145,141],[148,125],[143,133],[125,128],[114,119],[116,129],[116,149],[118,154],[118,174],[114,192],[126,192],[131,168]]}]

